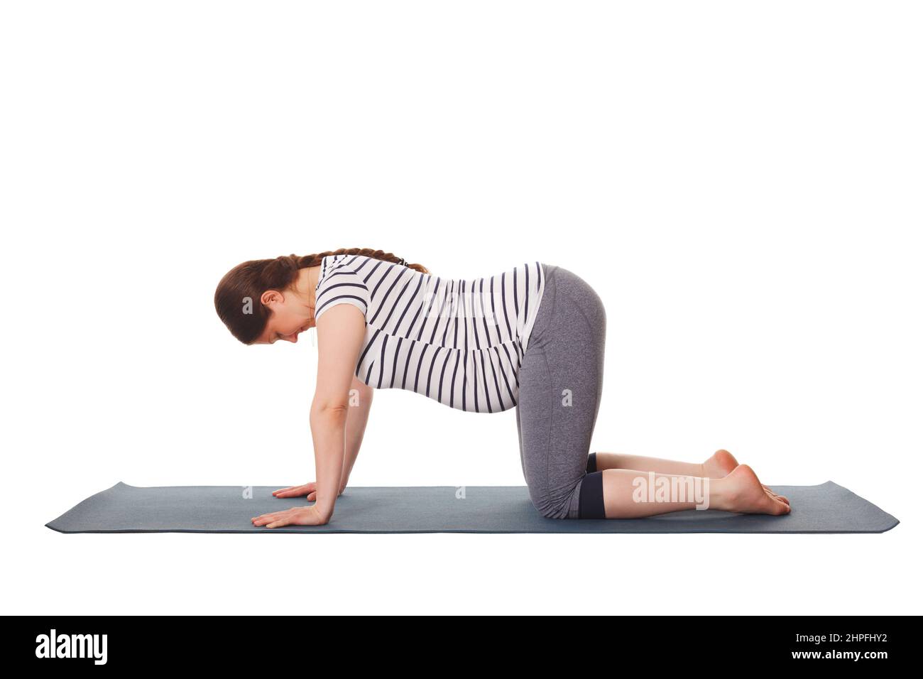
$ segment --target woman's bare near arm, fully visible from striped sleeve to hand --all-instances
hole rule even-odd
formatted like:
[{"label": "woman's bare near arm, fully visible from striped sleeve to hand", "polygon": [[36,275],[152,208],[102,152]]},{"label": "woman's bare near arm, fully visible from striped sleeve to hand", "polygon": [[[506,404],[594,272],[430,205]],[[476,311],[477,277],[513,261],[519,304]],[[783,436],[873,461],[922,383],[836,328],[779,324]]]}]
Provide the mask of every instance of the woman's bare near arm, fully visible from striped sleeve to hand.
[{"label": "woman's bare near arm, fully visible from striped sleeve to hand", "polygon": [[349,390],[365,336],[365,315],[351,304],[334,305],[318,319],[318,385],[310,415],[317,499],[309,507],[258,516],[255,525],[319,525],[333,516],[343,478]]}]

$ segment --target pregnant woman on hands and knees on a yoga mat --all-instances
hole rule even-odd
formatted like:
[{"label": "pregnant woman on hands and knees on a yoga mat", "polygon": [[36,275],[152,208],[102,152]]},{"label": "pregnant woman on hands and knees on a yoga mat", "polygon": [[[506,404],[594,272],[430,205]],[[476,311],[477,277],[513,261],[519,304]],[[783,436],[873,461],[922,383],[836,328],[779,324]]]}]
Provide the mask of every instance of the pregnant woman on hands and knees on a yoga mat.
[{"label": "pregnant woman on hands and knees on a yoga mat", "polygon": [[[485,278],[443,278],[382,250],[338,249],[245,261],[215,309],[246,345],[297,342],[317,327],[310,410],[316,482],[275,491],[312,505],[255,516],[256,526],[321,525],[346,488],[374,389],[400,388],[472,413],[516,407],[522,473],[548,518],[633,518],[707,506],[783,515],[788,500],[719,450],[702,463],[590,453],[603,393],[605,309],[554,264]],[[686,483],[705,497],[637,489]],[[702,501],[705,502],[702,502]]]}]

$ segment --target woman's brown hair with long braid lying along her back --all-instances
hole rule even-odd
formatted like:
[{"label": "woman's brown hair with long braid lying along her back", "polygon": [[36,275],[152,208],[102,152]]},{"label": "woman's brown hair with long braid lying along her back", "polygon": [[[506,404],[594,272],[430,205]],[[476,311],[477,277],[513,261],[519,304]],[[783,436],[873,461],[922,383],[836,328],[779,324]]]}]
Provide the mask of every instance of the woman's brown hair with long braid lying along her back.
[{"label": "woman's brown hair with long braid lying along her back", "polygon": [[215,310],[218,317],[237,339],[252,345],[266,329],[272,312],[259,298],[267,290],[294,287],[298,270],[318,266],[321,258],[329,255],[362,255],[373,260],[403,264],[414,271],[429,273],[423,264],[410,264],[384,250],[370,248],[341,248],[314,255],[281,255],[274,260],[250,260],[234,267],[222,277],[215,288]]}]

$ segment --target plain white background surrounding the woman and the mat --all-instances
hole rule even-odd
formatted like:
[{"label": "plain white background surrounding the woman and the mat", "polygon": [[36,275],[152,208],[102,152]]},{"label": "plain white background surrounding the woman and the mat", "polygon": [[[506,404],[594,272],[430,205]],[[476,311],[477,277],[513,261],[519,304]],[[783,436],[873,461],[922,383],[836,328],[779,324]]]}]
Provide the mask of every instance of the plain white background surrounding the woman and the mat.
[{"label": "plain white background surrounding the woman and the mat", "polygon": [[[2,604],[16,613],[919,613],[921,10],[29,2],[0,10]],[[62,535],[122,480],[313,479],[317,349],[240,261],[579,273],[593,450],[832,479],[872,535]],[[354,485],[523,484],[515,412],[376,394]]]}]

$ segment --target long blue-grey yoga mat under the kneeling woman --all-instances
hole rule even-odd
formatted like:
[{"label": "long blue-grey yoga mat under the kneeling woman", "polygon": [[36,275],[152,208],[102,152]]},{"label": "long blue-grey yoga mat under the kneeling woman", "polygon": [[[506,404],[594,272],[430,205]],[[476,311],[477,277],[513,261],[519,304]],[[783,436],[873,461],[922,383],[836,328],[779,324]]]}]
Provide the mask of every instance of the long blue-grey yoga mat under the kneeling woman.
[{"label": "long blue-grey yoga mat under the kneeling woman", "polygon": [[771,516],[689,509],[632,519],[551,519],[525,486],[353,487],[325,526],[255,527],[251,516],[304,506],[274,498],[278,486],[160,486],[116,483],[45,524],[61,533],[883,533],[896,518],[833,481],[771,486],[792,504]]}]

